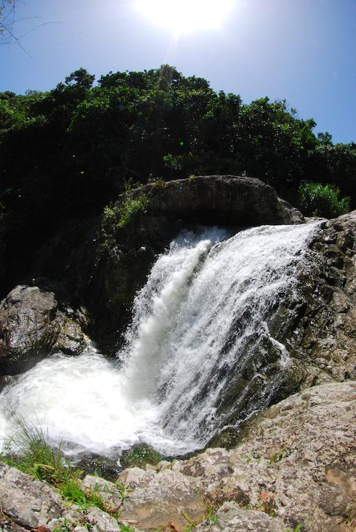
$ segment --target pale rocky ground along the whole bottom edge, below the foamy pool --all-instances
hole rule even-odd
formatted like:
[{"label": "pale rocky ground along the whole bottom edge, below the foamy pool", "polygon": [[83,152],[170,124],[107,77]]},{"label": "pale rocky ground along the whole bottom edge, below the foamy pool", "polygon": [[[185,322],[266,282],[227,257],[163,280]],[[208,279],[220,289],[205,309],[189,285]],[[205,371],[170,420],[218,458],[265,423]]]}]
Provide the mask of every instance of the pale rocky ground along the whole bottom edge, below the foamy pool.
[{"label": "pale rocky ground along the whole bottom edge, below the foamy pool", "polygon": [[322,384],[259,414],[232,450],[124,470],[127,498],[87,475],[84,490],[100,493],[107,512],[71,506],[48,484],[0,464],[3,530],[351,532],[355,409],[355,382]]}]

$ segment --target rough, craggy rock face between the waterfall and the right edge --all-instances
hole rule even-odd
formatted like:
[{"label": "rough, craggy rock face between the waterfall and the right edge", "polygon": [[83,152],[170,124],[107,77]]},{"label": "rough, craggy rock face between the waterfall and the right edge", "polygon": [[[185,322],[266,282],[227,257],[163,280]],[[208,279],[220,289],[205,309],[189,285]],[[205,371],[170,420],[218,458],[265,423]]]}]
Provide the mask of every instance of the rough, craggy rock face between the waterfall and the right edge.
[{"label": "rough, craggy rock face between the waterfall and the right edge", "polygon": [[281,341],[299,366],[301,388],[356,379],[355,250],[353,211],[322,225],[310,248],[312,263],[300,272],[296,319]]}]

